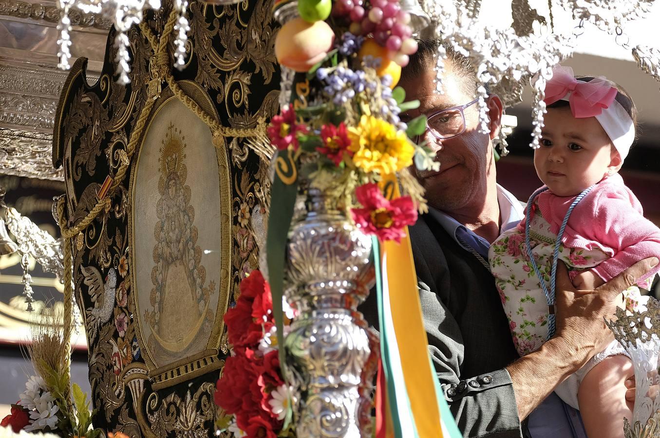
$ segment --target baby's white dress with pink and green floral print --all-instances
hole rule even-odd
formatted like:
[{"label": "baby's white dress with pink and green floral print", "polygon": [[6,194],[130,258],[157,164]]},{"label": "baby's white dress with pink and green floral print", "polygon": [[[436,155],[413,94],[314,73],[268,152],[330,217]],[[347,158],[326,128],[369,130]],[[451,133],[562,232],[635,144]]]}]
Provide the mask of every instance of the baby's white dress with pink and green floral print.
[{"label": "baby's white dress with pink and green floral print", "polygon": [[[513,344],[524,356],[537,350],[548,337],[548,303],[525,249],[525,230],[517,226],[504,232],[490,246],[488,261],[500,292],[504,311],[509,319]],[[550,232],[550,224],[543,218],[536,204],[530,221],[529,243],[543,278],[550,286],[552,254],[557,236]],[[608,258],[599,249],[559,247],[559,260],[570,271],[570,278],[582,270],[592,268]]]}]

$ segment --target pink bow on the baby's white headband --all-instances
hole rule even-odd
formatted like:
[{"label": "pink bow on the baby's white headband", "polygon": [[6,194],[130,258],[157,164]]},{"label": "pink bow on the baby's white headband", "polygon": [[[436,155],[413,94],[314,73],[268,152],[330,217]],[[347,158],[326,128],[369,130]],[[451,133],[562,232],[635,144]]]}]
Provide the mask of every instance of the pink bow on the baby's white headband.
[{"label": "pink bow on the baby's white headband", "polygon": [[571,67],[562,67],[557,64],[552,67],[552,78],[545,86],[546,105],[562,100],[570,93],[570,104],[573,117],[594,117],[609,108],[616,97],[616,88],[603,77],[594,78],[590,82],[582,82],[573,77]]}]

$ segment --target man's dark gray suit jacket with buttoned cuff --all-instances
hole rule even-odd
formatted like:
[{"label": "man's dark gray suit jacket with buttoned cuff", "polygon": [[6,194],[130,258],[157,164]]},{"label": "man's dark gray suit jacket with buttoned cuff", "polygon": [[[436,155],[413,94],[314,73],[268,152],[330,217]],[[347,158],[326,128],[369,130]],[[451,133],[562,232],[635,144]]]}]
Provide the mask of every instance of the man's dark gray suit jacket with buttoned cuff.
[{"label": "man's dark gray suit jacket with buttoned cuff", "polygon": [[[504,369],[518,355],[490,272],[430,215],[409,230],[428,348],[463,436],[529,436]],[[378,328],[375,300],[360,310]]]}]

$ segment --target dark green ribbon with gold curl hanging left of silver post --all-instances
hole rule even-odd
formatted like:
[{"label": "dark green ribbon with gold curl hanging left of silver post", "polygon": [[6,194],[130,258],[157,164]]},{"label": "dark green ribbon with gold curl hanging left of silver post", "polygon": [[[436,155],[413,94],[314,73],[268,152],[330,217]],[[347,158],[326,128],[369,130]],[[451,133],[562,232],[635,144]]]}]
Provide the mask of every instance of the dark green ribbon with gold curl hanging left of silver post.
[{"label": "dark green ribbon with gold curl hanging left of silver post", "polygon": [[[286,181],[286,182],[285,182]],[[293,217],[296,195],[298,194],[298,171],[292,154],[281,150],[275,158],[275,177],[271,187],[271,211],[268,216],[266,237],[266,259],[268,277],[273,296],[273,313],[277,328],[277,350],[280,359],[282,379],[286,381],[286,361],[284,360],[284,321],[282,319],[282,289],[284,288],[284,261],[286,241]]]}]

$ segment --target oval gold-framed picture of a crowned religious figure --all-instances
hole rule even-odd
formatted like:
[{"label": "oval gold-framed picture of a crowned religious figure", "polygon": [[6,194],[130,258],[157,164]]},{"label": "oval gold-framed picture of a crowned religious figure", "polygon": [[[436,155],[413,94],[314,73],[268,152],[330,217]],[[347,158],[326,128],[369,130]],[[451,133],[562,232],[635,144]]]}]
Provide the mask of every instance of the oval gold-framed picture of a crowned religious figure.
[{"label": "oval gold-framed picture of a crowned religious figure", "polygon": [[[208,94],[178,82],[216,119]],[[222,366],[230,295],[231,193],[224,146],[169,88],[131,170],[129,239],[136,330],[153,389]]]}]

